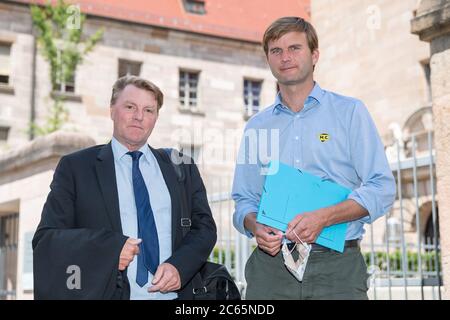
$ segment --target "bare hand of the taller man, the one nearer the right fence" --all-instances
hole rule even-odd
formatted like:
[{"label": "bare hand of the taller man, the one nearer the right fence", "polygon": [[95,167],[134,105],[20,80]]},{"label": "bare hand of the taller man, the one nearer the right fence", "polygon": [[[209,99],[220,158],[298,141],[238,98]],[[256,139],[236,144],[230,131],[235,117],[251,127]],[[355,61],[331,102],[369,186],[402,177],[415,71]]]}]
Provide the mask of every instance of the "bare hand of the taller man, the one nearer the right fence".
[{"label": "bare hand of the taller man, the one nearer the right fence", "polygon": [[299,242],[295,235],[297,234],[303,242],[313,243],[322,229],[326,227],[326,224],[326,211],[324,209],[298,214],[289,222],[286,237],[291,241]]}]

